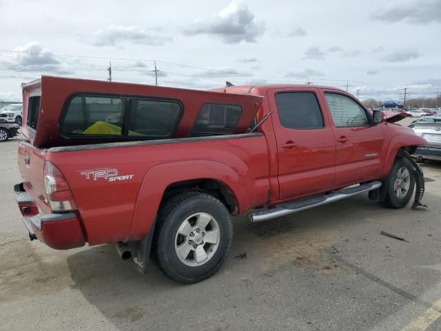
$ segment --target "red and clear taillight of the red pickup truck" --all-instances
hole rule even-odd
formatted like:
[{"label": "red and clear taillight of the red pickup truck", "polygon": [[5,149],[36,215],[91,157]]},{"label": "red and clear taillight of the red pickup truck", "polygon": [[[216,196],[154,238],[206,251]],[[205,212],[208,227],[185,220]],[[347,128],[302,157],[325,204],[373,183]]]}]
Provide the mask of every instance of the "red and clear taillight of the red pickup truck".
[{"label": "red and clear taillight of the red pickup truck", "polygon": [[44,187],[52,211],[76,210],[76,203],[68,182],[59,168],[49,161],[44,161]]}]

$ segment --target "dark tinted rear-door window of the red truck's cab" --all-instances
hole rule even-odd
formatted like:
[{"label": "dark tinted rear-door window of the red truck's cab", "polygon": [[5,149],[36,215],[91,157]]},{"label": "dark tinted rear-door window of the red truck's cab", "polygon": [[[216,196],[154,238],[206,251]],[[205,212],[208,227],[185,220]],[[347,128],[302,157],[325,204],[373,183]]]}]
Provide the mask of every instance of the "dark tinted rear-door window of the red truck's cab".
[{"label": "dark tinted rear-door window of the red truck's cab", "polygon": [[276,94],[280,124],[289,129],[323,128],[323,117],[316,94],[283,92]]}]

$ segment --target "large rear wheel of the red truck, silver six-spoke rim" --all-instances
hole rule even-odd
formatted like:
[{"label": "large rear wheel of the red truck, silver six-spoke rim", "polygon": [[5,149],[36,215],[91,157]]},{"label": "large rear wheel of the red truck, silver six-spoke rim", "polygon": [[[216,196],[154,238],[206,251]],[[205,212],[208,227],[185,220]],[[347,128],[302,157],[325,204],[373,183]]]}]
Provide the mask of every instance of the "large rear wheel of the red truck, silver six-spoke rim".
[{"label": "large rear wheel of the red truck, silver six-spoke rim", "polygon": [[174,281],[197,283],[220,269],[232,237],[232,218],[222,202],[201,192],[178,194],[158,213],[153,257]]}]

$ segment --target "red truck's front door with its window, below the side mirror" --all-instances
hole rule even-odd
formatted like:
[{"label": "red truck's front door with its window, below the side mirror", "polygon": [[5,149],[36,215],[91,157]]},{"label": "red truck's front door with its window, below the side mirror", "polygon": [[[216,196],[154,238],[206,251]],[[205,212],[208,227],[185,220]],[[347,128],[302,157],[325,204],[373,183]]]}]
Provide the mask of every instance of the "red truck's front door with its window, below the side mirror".
[{"label": "red truck's front door with its window, below the side mirror", "polygon": [[380,172],[382,125],[373,125],[371,114],[356,99],[324,91],[336,141],[336,186],[375,179]]}]

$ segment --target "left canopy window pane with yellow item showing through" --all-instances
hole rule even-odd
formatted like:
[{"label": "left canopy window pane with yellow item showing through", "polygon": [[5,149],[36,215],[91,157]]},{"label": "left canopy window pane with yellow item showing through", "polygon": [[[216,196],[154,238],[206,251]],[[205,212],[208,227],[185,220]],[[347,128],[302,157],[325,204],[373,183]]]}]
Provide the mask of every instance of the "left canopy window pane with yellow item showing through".
[{"label": "left canopy window pane with yellow item showing through", "polygon": [[65,113],[62,130],[68,134],[119,135],[125,99],[74,97]]}]

